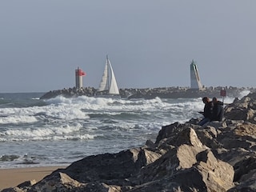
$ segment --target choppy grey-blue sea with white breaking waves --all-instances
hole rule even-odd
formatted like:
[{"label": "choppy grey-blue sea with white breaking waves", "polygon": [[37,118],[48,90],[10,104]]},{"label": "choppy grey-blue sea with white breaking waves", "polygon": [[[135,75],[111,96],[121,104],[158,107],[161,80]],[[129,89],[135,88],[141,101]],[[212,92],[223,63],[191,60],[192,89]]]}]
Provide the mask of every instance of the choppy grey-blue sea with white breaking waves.
[{"label": "choppy grey-blue sea with white breaking waves", "polygon": [[0,94],[0,169],[69,166],[90,155],[144,146],[155,142],[162,126],[202,118],[204,106],[202,98],[42,100],[43,94]]}]

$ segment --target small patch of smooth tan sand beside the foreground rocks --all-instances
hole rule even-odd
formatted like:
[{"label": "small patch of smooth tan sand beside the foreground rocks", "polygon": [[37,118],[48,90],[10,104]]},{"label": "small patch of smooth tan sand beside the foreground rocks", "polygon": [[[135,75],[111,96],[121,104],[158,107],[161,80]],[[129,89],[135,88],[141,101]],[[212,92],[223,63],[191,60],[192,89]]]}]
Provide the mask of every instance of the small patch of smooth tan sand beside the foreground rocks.
[{"label": "small patch of smooth tan sand beside the foreground rocks", "polygon": [[29,168],[0,169],[0,191],[30,180],[40,181],[54,170],[65,166],[42,166]]}]

